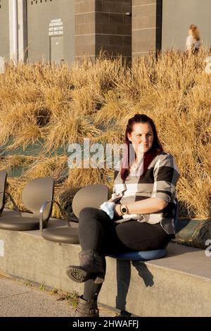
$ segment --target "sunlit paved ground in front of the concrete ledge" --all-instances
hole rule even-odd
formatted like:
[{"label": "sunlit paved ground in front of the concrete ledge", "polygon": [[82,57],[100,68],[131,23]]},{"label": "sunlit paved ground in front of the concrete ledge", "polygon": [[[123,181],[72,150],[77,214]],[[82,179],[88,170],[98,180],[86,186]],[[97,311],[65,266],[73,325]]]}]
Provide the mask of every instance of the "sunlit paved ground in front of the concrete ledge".
[{"label": "sunlit paved ground in front of the concrete ledge", "polygon": [[[71,317],[72,308],[66,294],[46,291],[27,283],[0,275],[1,317]],[[99,307],[100,316],[113,317],[117,314]]]}]

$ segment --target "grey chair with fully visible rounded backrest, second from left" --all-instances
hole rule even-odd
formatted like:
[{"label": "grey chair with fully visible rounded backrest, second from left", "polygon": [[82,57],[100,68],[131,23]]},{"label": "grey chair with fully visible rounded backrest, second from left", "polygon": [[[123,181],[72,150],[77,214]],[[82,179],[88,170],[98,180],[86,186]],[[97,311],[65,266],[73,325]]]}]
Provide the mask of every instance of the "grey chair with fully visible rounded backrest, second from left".
[{"label": "grey chair with fully visible rounded backrest, second from left", "polygon": [[[0,229],[12,231],[27,231],[39,229],[39,209],[46,200],[53,199],[54,180],[51,177],[40,177],[31,180],[23,189],[23,204],[32,214],[20,213],[13,198],[7,192],[13,202],[18,215],[5,211],[0,217]],[[43,227],[46,227],[51,216],[52,204],[47,206],[43,215]],[[8,215],[6,215],[8,213]]]}]

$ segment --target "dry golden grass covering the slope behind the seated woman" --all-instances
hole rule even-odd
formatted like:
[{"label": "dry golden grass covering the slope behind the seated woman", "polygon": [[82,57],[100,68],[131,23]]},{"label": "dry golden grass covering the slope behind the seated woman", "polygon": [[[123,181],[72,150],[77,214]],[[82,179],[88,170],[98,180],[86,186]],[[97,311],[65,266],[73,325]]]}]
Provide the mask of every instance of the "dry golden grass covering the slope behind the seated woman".
[{"label": "dry golden grass covering the slope behind the seated woman", "polygon": [[[50,175],[56,198],[71,208],[72,196],[84,185],[105,183],[112,170],[67,169],[68,156],[52,154],[72,142],[120,143],[134,113],[146,113],[158,127],[166,151],[174,155],[181,178],[178,196],[181,215],[211,215],[211,75],[205,57],[169,51],[156,60],[134,59],[132,68],[122,58],[103,55],[96,63],[6,65],[0,75],[0,144],[13,137],[9,150],[44,139],[37,157],[1,158],[1,169],[27,163],[23,176],[9,179],[9,189],[23,208],[21,192],[28,180]],[[52,155],[51,155],[52,154]],[[66,174],[63,176],[63,174]],[[58,210],[53,209],[58,216]]]}]

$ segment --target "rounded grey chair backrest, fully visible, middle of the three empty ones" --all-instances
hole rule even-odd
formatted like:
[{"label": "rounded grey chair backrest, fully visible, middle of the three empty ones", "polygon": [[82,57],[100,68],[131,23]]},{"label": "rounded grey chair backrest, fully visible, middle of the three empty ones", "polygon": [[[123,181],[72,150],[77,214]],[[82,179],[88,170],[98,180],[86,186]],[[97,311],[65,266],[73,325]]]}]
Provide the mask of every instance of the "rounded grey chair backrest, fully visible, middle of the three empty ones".
[{"label": "rounded grey chair backrest, fully visible, middle of the three empty ones", "polygon": [[[54,180],[51,177],[40,177],[31,180],[23,189],[23,204],[39,218],[39,209],[45,201],[53,200]],[[49,220],[52,203],[44,210],[43,220]]]}]

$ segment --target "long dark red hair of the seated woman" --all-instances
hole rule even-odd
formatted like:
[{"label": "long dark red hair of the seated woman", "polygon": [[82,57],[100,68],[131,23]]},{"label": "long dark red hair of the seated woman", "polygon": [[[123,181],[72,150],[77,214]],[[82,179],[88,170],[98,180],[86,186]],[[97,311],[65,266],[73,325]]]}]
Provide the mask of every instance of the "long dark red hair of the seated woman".
[{"label": "long dark red hair of the seated woman", "polygon": [[153,130],[153,145],[149,151],[147,151],[144,154],[143,157],[143,173],[141,177],[143,177],[146,173],[146,169],[148,168],[148,165],[153,161],[153,158],[160,154],[163,151],[162,145],[160,144],[160,141],[158,139],[158,133],[155,127],[155,123],[153,120],[144,114],[136,114],[134,117],[129,118],[127,127],[124,133],[124,154],[123,154],[123,162],[122,162],[122,168],[120,170],[121,178],[122,180],[125,180],[129,174],[129,139],[127,135],[131,135],[133,126],[136,123],[149,123]]}]

